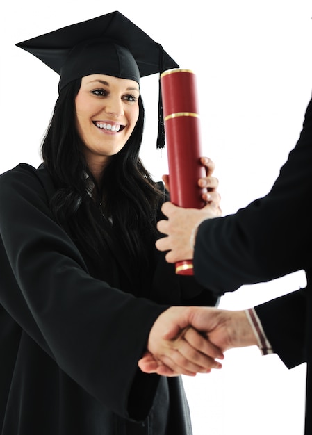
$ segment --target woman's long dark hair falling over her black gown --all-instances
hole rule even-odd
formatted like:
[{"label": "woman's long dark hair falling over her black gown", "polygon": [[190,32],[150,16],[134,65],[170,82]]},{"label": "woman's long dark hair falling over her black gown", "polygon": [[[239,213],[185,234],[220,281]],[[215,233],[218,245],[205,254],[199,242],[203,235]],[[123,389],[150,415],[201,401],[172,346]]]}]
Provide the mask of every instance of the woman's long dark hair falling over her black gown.
[{"label": "woman's long dark hair falling over her black gown", "polygon": [[[139,158],[145,122],[142,99],[131,137],[110,159],[97,186],[76,130],[75,97],[80,85],[78,79],[61,90],[42,141],[42,159],[56,187],[51,210],[58,223],[92,257],[107,249],[113,231],[137,267],[138,261],[147,258],[143,234],[156,234],[156,211],[163,195]],[[90,182],[95,186],[92,198]]]}]

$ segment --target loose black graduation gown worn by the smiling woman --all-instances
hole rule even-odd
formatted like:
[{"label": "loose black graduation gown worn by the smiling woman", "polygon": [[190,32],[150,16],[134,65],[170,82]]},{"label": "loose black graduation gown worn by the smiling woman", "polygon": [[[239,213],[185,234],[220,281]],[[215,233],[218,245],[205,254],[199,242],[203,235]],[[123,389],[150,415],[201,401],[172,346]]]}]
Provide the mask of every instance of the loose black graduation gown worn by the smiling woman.
[{"label": "loose black graduation gown worn by the smiling woman", "polygon": [[90,261],[51,215],[53,192],[42,166],[0,177],[1,434],[191,434],[181,379],[137,362],[168,305],[216,298],[154,245],[140,284],[116,245]]}]

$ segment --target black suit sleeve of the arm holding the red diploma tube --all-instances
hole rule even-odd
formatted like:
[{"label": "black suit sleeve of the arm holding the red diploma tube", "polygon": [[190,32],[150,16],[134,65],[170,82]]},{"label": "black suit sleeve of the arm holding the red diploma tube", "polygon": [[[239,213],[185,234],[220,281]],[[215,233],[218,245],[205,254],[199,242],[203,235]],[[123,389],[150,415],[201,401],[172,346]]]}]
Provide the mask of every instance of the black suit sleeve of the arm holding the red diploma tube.
[{"label": "black suit sleeve of the arm holding the red diploma tube", "polygon": [[199,283],[222,295],[311,268],[311,168],[310,101],[297,145],[268,195],[199,226],[194,257]]}]

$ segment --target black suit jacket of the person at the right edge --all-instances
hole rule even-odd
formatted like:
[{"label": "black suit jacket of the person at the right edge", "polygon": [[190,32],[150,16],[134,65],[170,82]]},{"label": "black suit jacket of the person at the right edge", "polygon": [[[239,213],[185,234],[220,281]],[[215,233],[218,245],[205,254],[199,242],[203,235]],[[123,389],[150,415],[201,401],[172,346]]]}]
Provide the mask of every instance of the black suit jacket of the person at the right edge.
[{"label": "black suit jacket of the person at the right edge", "polygon": [[[256,307],[274,350],[288,367],[306,361],[306,410],[312,407],[312,102],[296,147],[272,190],[235,215],[199,226],[194,258],[197,280],[215,295],[243,284],[305,270],[307,286]],[[306,412],[306,435],[312,415]]]}]

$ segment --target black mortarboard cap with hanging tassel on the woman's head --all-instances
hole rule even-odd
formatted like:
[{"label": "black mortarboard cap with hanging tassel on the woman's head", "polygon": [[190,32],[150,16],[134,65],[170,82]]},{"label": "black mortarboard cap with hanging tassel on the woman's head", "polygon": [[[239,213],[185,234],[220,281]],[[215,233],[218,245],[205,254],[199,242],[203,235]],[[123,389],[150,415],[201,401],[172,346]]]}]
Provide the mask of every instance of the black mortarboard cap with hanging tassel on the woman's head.
[{"label": "black mortarboard cap with hanging tassel on the woman's head", "polygon": [[[179,67],[161,44],[117,11],[19,42],[17,47],[60,74],[59,90],[90,74],[139,82],[140,77]],[[163,122],[161,97],[159,102],[158,121]],[[158,125],[158,135],[160,129],[163,126]]]}]

